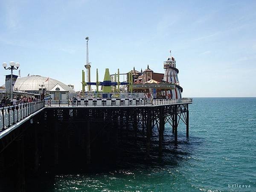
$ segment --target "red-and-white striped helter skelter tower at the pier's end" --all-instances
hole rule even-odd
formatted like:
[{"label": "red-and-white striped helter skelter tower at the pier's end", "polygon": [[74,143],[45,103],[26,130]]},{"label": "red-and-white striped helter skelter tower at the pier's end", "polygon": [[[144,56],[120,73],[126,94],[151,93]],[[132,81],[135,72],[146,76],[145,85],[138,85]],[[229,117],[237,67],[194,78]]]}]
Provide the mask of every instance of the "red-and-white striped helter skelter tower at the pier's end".
[{"label": "red-and-white striped helter skelter tower at the pier's end", "polygon": [[165,70],[163,80],[168,83],[174,83],[175,89],[166,91],[166,95],[170,99],[181,99],[181,93],[183,91],[182,87],[180,87],[178,73],[179,70],[176,68],[175,58],[172,56],[170,51],[170,57],[167,61],[163,62],[163,68]]}]

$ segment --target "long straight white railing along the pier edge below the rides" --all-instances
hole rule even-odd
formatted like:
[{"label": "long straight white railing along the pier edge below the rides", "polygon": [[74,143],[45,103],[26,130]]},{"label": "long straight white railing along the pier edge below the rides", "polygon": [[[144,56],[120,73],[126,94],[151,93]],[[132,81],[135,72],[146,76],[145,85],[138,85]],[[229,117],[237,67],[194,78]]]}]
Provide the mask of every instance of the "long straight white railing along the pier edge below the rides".
[{"label": "long straight white railing along the pier edge below the rides", "polygon": [[169,105],[175,103],[192,103],[192,98],[182,99],[81,99],[78,100],[49,100],[48,107],[87,107],[87,106],[130,106],[130,105]]}]

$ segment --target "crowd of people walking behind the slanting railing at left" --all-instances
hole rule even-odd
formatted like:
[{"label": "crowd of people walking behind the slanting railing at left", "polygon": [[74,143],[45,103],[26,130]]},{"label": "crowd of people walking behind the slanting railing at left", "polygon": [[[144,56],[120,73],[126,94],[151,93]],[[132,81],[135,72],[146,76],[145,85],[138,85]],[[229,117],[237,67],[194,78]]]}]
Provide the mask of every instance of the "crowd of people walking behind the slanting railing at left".
[{"label": "crowd of people walking behind the slanting railing at left", "polygon": [[30,102],[37,102],[38,99],[36,97],[26,97],[26,96],[21,96],[20,98],[13,98],[12,100],[9,97],[3,97],[1,100],[0,107],[7,107],[11,105],[18,105],[18,104],[23,104],[23,103],[30,103]]}]

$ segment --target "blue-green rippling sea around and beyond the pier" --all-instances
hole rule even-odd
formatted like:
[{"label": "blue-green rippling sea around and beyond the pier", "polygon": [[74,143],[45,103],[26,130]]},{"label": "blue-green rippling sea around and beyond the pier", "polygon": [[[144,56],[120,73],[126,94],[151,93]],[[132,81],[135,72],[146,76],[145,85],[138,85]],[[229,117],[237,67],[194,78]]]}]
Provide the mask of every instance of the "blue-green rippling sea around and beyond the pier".
[{"label": "blue-green rippling sea around and beyond the pier", "polygon": [[27,191],[256,192],[256,98],[193,98],[189,138],[182,121],[177,146],[170,125],[164,135],[162,155],[157,131],[150,159],[143,139],[119,140],[90,171],[46,175]]}]

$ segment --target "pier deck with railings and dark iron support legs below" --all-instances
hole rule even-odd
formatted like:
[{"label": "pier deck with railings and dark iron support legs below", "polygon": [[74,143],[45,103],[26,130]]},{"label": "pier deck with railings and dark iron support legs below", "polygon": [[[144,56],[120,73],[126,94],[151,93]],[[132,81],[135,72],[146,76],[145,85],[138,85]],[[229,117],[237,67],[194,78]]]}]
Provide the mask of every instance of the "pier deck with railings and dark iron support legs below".
[{"label": "pier deck with railings and dark iron support legs below", "polygon": [[[81,151],[81,160],[89,165],[93,163],[96,145],[111,142],[117,146],[120,137],[128,132],[133,133],[134,142],[139,136],[143,138],[147,158],[150,158],[151,134],[157,132],[161,155],[166,128],[172,128],[174,145],[178,145],[180,122],[186,125],[189,137],[191,103],[190,98],[84,99],[75,103],[52,100],[2,108],[0,172],[9,175],[6,165],[12,162],[17,172],[13,174],[18,175],[17,188],[24,191],[28,166],[31,174],[37,174],[45,166],[58,166],[73,150]],[[29,164],[25,161],[28,159]]]}]

